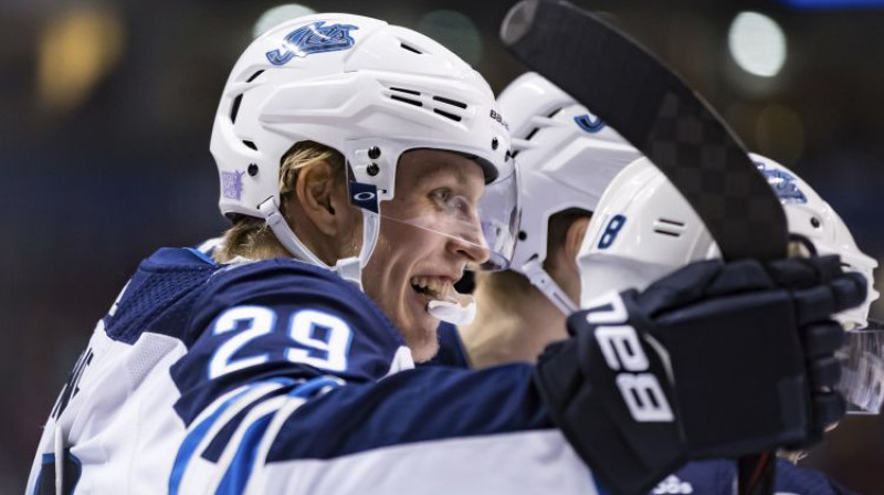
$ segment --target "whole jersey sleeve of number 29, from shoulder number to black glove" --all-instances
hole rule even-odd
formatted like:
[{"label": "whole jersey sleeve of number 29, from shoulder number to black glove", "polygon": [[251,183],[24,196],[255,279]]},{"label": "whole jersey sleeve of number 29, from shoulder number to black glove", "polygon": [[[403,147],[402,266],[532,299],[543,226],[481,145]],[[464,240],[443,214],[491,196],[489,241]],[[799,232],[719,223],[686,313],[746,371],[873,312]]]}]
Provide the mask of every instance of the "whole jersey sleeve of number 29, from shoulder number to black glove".
[{"label": "whole jersey sleeve of number 29, from shoulder number to black glove", "polygon": [[596,493],[529,366],[402,370],[401,337],[346,283],[238,276],[194,314],[204,330],[172,369],[188,428],[171,495]]}]

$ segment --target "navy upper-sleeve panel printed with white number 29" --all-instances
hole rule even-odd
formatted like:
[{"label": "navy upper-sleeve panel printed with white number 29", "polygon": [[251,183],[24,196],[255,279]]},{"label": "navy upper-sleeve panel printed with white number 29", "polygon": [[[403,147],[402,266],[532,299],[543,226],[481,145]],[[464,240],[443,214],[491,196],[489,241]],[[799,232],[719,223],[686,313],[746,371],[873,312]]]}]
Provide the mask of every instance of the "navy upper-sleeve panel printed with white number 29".
[{"label": "navy upper-sleeve panel printed with white number 29", "polygon": [[217,266],[193,301],[171,368],[190,422],[221,394],[266,379],[386,376],[404,341],[356,285],[292,259]]}]

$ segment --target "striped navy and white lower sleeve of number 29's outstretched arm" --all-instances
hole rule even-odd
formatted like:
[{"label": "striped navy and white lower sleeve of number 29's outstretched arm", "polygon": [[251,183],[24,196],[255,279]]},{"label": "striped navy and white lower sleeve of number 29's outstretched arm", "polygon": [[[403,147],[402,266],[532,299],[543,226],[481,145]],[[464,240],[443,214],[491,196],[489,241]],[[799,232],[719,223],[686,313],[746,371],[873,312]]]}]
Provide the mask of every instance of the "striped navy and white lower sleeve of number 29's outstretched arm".
[{"label": "striped navy and white lower sleeve of number 29's outstretched arm", "polygon": [[[526,365],[481,372],[440,367],[377,383],[327,383],[325,393],[307,401],[292,390],[246,418],[224,449],[194,459],[182,486],[233,493],[246,484],[257,493],[597,493],[589,470],[551,429],[532,375]],[[250,452],[253,463],[236,461]]]}]

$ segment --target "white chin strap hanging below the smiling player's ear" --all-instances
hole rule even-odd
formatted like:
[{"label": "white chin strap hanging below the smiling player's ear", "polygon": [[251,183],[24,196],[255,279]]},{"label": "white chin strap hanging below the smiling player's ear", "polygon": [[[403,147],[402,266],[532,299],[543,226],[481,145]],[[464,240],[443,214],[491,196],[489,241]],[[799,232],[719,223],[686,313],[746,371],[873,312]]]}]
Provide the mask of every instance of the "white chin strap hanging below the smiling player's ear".
[{"label": "white chin strap hanging below the smiling player's ear", "polygon": [[276,239],[293,256],[303,262],[319,266],[320,268],[330,270],[337,273],[341,278],[355,283],[359,286],[360,291],[362,289],[362,266],[365,266],[368,256],[370,256],[371,252],[375,250],[375,244],[378,239],[377,219],[373,219],[372,222],[372,219],[366,218],[371,215],[367,215],[364,212],[362,249],[359,256],[345,257],[338,260],[335,266],[329,266],[301,242],[297,234],[288,227],[288,222],[285,221],[285,218],[282,212],[280,212],[280,208],[276,206],[273,198],[267,198],[257,209],[261,211],[261,214],[264,215],[264,220],[276,235]]}]

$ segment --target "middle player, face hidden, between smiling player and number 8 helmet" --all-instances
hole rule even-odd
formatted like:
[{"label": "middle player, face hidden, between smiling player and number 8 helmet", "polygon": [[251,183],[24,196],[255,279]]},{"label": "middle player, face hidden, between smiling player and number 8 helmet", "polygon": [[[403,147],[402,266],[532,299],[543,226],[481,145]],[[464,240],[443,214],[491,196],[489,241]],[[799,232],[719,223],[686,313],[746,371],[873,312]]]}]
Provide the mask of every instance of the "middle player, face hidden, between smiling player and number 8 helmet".
[{"label": "middle player, face hidden, between smiling player and number 8 helmet", "polygon": [[[480,276],[481,310],[453,333],[443,324],[442,355],[461,360],[463,338],[475,368],[534,362],[567,337],[565,318],[578,309],[577,253],[604,188],[641,155],[565,92],[526,73],[501,93],[513,155],[522,173],[522,222],[512,270]],[[545,297],[544,297],[545,296]]]}]

